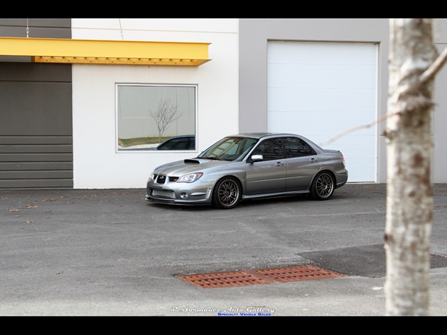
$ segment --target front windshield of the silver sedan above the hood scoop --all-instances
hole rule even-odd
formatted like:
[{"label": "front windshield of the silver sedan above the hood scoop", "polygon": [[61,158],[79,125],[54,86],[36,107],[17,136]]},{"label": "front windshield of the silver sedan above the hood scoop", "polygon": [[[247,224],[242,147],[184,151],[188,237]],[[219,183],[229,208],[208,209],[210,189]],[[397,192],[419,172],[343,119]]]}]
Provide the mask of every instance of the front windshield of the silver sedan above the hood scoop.
[{"label": "front windshield of the silver sedan above the hood scoop", "polygon": [[198,158],[219,159],[221,161],[242,160],[257,141],[254,138],[247,137],[224,137],[198,155]]}]

